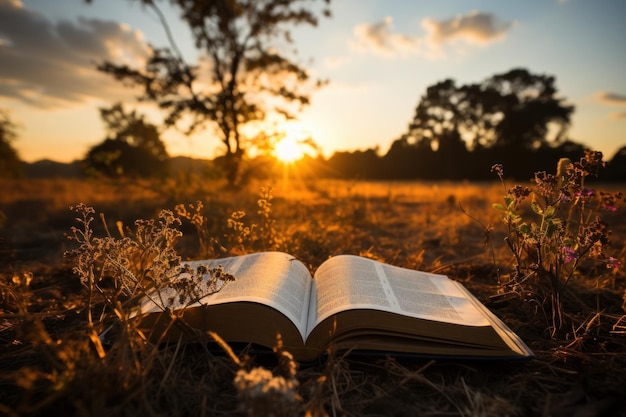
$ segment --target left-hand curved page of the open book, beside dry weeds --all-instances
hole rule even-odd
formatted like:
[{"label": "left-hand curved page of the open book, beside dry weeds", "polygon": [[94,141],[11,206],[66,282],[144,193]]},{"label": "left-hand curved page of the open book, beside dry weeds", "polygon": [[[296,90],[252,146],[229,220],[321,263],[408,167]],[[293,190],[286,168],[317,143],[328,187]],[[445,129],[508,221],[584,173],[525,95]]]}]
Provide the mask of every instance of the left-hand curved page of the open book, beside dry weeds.
[{"label": "left-hand curved page of the open book, beside dry weeds", "polygon": [[[275,308],[287,316],[303,336],[306,331],[311,274],[293,256],[282,252],[261,252],[207,261],[184,262],[192,268],[221,265],[235,281],[228,282],[219,292],[208,295],[187,308],[238,301],[258,302]],[[167,300],[173,290],[161,291]],[[182,306],[172,306],[172,308]],[[144,303],[142,312],[160,311],[152,302]],[[276,329],[277,331],[280,329]]]}]

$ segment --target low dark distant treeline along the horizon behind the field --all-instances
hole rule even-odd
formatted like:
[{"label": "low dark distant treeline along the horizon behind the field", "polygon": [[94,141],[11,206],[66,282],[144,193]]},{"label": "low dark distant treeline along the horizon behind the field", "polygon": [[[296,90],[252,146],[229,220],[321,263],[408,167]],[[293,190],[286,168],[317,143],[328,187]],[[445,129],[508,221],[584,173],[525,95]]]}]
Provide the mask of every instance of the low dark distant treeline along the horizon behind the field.
[{"label": "low dark distant treeline along the horizon behind the field", "polygon": [[[292,175],[308,178],[337,178],[354,180],[493,180],[494,164],[502,164],[508,178],[528,180],[534,173],[554,173],[560,158],[578,161],[585,147],[566,142],[556,147],[544,146],[536,150],[480,148],[468,150],[437,149],[415,146],[398,140],[385,154],[376,149],[336,152],[329,158],[305,157],[290,168]],[[610,158],[610,159],[609,159]],[[606,169],[600,174],[603,181],[626,181],[626,146],[615,155],[605,155]],[[54,161],[24,163],[22,172],[30,178],[77,178],[85,176],[82,161],[64,164]],[[282,165],[270,157],[258,157],[244,164],[249,178],[279,177]],[[193,173],[199,176],[219,177],[220,158],[198,160],[187,157],[169,158],[163,177],[177,177]]]}]

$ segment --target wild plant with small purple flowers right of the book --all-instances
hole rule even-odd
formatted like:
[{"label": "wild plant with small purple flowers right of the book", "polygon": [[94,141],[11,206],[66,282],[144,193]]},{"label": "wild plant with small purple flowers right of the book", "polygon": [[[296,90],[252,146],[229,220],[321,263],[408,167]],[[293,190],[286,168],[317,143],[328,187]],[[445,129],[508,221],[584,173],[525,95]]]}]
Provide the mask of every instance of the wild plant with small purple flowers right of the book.
[{"label": "wild plant with small purple flowers right of the book", "polygon": [[[535,282],[545,291],[535,295],[542,305],[549,305],[553,335],[565,324],[564,291],[583,265],[591,261],[603,266],[594,269],[597,279],[620,266],[617,258],[606,253],[611,229],[601,216],[602,212],[617,211],[622,195],[587,188],[586,184],[604,165],[601,152],[587,151],[574,163],[562,159],[556,175],[535,173],[532,189],[522,185],[507,189],[502,166],[493,167],[506,191],[504,204],[494,207],[502,212],[508,230],[506,243],[515,259],[507,285],[524,292],[529,282]],[[523,207],[528,197],[530,212]]]}]

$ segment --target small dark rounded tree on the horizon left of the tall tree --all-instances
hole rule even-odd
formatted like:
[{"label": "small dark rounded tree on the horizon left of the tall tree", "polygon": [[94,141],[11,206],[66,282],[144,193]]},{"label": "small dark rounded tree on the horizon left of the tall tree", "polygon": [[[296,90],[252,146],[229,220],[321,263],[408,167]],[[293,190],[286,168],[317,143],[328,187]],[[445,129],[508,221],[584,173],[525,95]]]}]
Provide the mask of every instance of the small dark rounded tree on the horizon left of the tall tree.
[{"label": "small dark rounded tree on the horizon left of the tall tree", "polygon": [[157,128],[134,110],[125,112],[121,104],[101,108],[107,138],[92,147],[85,158],[88,173],[109,177],[163,177],[169,156]]}]

